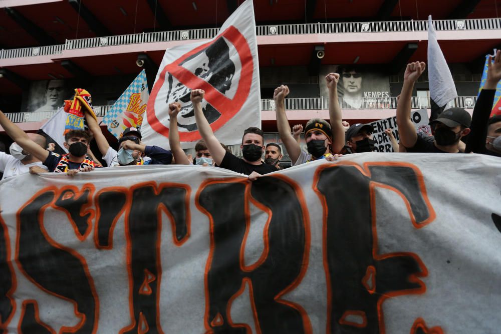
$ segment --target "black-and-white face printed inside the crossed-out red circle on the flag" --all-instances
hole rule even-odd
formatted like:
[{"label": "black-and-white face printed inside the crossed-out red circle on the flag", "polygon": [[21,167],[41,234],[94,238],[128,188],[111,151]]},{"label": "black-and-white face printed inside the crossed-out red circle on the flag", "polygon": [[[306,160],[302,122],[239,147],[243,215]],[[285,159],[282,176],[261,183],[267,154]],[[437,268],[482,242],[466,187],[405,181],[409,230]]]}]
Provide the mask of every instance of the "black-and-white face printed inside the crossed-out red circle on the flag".
[{"label": "black-and-white face printed inside the crossed-out red circle on the flag", "polygon": [[[202,65],[199,65],[202,64]],[[197,77],[205,80],[221,94],[231,93],[231,80],[235,74],[235,65],[229,57],[229,48],[223,38],[219,38],[207,49],[188,57],[180,66],[190,70]],[[190,132],[197,130],[193,105],[190,101],[190,89],[180,83],[171,74],[168,74],[169,85],[166,104],[179,103],[179,117],[177,118],[179,131]],[[203,115],[212,124],[221,114],[206,101],[201,102]]]}]

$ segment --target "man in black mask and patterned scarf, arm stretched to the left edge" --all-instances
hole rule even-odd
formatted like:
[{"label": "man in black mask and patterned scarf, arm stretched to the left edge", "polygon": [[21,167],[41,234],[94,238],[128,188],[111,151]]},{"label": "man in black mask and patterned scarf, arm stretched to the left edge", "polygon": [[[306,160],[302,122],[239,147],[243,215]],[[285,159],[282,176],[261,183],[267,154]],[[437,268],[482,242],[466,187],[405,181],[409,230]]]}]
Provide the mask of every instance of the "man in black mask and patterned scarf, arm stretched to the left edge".
[{"label": "man in black mask and patterned scarf, arm stretched to the left edge", "polygon": [[89,172],[96,167],[101,167],[87,156],[91,135],[83,130],[72,130],[65,135],[65,148],[70,153],[59,155],[49,152],[35,143],[28,135],[16,124],[12,123],[3,112],[0,111],[0,125],[5,132],[21,148],[33,154],[33,156],[42,161],[50,172],[68,173],[73,176],[78,172]]}]

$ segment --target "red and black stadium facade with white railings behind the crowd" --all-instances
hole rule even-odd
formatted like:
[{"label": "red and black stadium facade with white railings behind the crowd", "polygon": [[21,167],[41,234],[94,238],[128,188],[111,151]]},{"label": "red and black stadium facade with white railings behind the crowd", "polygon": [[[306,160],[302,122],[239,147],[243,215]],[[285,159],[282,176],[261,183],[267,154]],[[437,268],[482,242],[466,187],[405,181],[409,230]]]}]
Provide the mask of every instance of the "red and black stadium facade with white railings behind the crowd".
[{"label": "red and black stadium facade with white railings behind the crowd", "polygon": [[[213,37],[240,3],[0,0],[0,109],[36,131],[53,105],[83,87],[103,116],[139,73],[138,60],[152,85],[165,49]],[[255,0],[254,6],[262,127],[269,133],[277,131],[277,86],[291,89],[291,125],[327,119],[323,77],[343,69],[345,120],[394,116],[405,65],[427,61],[428,15],[456,84],[451,106],[472,111],[485,55],[501,48],[501,0]],[[429,108],[427,75],[412,107]]]}]

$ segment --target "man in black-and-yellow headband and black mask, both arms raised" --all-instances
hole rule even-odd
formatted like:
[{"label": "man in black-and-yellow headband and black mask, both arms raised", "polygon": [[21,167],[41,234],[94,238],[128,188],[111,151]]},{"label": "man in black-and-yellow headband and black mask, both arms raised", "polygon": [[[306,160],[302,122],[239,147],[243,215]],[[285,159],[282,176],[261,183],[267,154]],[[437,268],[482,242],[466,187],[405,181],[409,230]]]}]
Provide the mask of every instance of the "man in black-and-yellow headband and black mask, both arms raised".
[{"label": "man in black-and-yellow headband and black mask, both arms raised", "polygon": [[289,94],[289,87],[282,85],[275,89],[277,128],[291,158],[292,166],[317,159],[335,160],[337,157],[333,154],[339,153],[343,149],[345,132],[337,93],[339,74],[329,73],[325,80],[329,90],[329,118],[331,124],[318,118],[311,119],[306,123],[305,141],[308,153],[301,150],[301,146],[291,134],[291,126],[287,119],[284,103],[286,96]]}]

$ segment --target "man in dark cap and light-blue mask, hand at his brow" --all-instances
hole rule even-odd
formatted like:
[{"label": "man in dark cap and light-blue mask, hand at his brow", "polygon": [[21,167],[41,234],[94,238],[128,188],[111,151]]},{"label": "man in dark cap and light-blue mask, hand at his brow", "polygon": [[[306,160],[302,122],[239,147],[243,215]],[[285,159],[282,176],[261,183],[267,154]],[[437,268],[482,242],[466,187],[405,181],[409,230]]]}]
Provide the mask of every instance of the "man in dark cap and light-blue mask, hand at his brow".
[{"label": "man in dark cap and light-blue mask, hand at his brow", "polygon": [[[172,162],[172,153],[158,146],[146,146],[136,137],[124,136],[119,139],[118,165],[169,165]],[[145,154],[151,160],[145,161],[141,156]],[[113,167],[113,166],[110,166]]]}]

